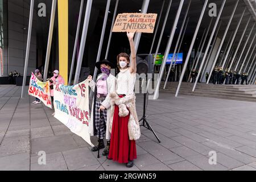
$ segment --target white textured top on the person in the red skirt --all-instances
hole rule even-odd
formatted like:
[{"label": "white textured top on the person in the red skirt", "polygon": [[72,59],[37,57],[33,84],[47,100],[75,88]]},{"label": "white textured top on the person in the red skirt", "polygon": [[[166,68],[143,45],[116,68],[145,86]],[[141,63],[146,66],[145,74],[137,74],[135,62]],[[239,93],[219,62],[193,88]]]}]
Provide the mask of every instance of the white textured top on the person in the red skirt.
[{"label": "white textured top on the person in the red skirt", "polygon": [[134,85],[136,74],[130,73],[129,68],[120,69],[117,75],[117,93],[118,94],[134,94]]}]

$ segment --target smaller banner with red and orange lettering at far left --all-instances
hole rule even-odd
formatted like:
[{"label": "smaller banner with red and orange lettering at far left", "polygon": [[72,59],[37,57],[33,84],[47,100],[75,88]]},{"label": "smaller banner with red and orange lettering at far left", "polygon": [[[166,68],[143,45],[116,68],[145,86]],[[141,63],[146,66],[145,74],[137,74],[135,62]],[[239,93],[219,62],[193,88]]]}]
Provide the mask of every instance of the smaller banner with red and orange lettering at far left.
[{"label": "smaller banner with red and orange lettering at far left", "polygon": [[49,81],[42,82],[31,73],[28,95],[39,98],[44,105],[52,108],[51,95],[49,91]]}]

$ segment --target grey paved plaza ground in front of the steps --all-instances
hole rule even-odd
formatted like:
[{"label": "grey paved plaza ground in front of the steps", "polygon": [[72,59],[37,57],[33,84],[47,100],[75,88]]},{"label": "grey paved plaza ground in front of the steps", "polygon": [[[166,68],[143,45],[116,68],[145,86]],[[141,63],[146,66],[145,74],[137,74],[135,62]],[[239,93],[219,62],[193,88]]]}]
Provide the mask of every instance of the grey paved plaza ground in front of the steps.
[{"label": "grey paved plaza ground in front of the steps", "polygon": [[[254,102],[160,93],[148,101],[147,119],[162,142],[142,127],[138,159],[126,168],[97,159],[50,109],[20,99],[20,90],[0,85],[0,170],[256,170]],[[137,96],[139,115],[142,101]],[[38,164],[39,151],[46,152],[46,165]],[[217,152],[216,165],[208,162],[210,151]]]}]

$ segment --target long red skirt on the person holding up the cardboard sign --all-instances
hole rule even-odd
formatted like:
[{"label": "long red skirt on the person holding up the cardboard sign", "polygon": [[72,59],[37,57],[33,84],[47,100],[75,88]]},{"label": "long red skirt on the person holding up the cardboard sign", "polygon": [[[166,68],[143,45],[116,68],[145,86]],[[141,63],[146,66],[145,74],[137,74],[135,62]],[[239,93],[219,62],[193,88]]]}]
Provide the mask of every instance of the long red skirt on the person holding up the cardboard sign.
[{"label": "long red skirt on the person holding up the cardboard sign", "polygon": [[130,117],[119,117],[119,107],[115,105],[109,159],[119,163],[127,163],[129,160],[137,159],[135,140],[129,139],[128,121]]}]

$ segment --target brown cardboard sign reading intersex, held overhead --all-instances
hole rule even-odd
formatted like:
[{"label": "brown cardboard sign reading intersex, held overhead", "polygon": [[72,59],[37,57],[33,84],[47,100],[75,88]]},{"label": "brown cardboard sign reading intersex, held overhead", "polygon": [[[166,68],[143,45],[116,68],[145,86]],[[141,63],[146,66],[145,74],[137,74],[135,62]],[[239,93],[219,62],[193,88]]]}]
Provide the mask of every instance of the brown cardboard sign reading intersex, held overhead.
[{"label": "brown cardboard sign reading intersex, held overhead", "polygon": [[153,33],[157,14],[121,13],[115,19],[113,32]]}]

